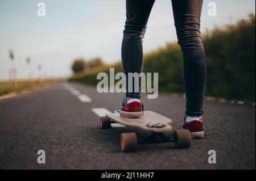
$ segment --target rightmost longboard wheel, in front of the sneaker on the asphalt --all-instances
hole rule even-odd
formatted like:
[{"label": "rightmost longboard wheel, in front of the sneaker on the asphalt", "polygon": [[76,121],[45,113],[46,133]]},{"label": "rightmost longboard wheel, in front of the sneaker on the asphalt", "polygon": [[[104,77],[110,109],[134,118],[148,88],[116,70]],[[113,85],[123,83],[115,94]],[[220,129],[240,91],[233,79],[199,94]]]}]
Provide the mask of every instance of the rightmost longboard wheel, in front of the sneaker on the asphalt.
[{"label": "rightmost longboard wheel, in front of the sneaker on the asphalt", "polygon": [[174,145],[176,148],[189,148],[191,133],[188,130],[176,130],[174,132]]}]

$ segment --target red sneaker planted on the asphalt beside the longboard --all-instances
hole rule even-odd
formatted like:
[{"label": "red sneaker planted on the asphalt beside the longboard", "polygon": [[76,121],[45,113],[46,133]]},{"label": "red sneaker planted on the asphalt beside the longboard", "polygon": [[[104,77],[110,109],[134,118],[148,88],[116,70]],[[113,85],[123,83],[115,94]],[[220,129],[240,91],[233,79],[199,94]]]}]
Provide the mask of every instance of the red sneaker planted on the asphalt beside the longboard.
[{"label": "red sneaker planted on the asphalt beside the longboard", "polygon": [[188,129],[191,132],[192,139],[199,139],[204,137],[204,124],[203,119],[195,120],[195,121],[186,121],[186,117],[184,118],[183,129]]}]

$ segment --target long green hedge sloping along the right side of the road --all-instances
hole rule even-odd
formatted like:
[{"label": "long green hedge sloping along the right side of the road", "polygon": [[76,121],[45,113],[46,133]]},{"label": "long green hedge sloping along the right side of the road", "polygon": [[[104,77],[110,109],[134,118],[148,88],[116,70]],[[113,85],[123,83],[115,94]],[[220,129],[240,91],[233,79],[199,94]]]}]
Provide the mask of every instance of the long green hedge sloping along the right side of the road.
[{"label": "long green hedge sloping along the right side of the road", "polygon": [[[255,102],[255,15],[208,31],[203,42],[208,65],[206,95]],[[97,85],[97,73],[109,74],[109,68],[117,73],[122,71],[122,64],[119,61],[101,66],[71,81]],[[184,92],[182,55],[177,43],[146,53],[143,71],[159,73],[159,91]]]}]

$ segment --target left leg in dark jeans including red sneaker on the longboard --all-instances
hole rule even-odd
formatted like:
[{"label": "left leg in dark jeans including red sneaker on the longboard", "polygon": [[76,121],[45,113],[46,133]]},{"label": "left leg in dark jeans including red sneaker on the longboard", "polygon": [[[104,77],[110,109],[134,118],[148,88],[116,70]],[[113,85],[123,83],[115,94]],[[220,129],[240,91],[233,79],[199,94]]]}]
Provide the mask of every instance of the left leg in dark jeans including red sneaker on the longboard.
[{"label": "left leg in dark jeans including red sneaker on the longboard", "polygon": [[[126,0],[126,22],[122,41],[122,65],[126,75],[126,98],[123,99],[120,115],[124,117],[141,117],[141,78],[139,83],[129,78],[129,73],[142,72],[142,42],[146,32],[148,17],[155,0]],[[129,87],[130,86],[130,87]],[[132,90],[129,90],[133,87]]]}]

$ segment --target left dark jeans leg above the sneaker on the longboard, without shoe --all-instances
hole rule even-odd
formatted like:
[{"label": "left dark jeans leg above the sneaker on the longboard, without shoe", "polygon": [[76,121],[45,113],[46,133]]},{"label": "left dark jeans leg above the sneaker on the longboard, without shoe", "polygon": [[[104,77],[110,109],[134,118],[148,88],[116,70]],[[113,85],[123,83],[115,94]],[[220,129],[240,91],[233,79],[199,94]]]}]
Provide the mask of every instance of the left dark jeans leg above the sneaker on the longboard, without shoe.
[{"label": "left dark jeans leg above the sneaker on the longboard, without shoe", "polygon": [[[141,79],[139,87],[133,79],[128,79],[128,73],[141,73],[143,66],[142,39],[146,31],[148,17],[155,0],[126,0],[126,22],[122,41],[122,65],[126,74],[126,97],[141,99]],[[129,92],[128,85],[133,85]]]}]

